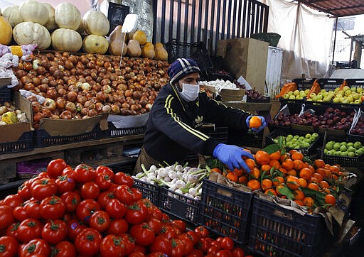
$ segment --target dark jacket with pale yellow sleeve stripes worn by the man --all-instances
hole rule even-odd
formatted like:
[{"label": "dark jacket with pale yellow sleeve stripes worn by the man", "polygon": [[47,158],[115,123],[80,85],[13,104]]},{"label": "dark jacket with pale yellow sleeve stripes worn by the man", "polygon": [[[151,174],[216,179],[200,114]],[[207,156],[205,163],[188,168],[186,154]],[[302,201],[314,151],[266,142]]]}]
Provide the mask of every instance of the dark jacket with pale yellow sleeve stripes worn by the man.
[{"label": "dark jacket with pale yellow sleeve stripes worn by the man", "polygon": [[144,136],[146,153],[167,163],[184,160],[191,153],[213,155],[218,141],[198,131],[202,122],[247,130],[250,114],[219,104],[200,92],[194,102],[181,99],[176,87],[166,84],[149,113]]}]

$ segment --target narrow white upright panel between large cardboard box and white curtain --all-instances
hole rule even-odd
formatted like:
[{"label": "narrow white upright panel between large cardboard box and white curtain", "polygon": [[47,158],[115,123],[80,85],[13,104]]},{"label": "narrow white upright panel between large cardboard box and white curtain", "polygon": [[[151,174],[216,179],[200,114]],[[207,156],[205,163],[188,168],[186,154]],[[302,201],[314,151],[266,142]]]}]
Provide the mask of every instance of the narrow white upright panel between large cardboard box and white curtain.
[{"label": "narrow white upright panel between large cardboard box and white curtain", "polygon": [[265,82],[267,83],[266,94],[271,99],[279,93],[282,70],[282,49],[268,47],[267,73]]}]

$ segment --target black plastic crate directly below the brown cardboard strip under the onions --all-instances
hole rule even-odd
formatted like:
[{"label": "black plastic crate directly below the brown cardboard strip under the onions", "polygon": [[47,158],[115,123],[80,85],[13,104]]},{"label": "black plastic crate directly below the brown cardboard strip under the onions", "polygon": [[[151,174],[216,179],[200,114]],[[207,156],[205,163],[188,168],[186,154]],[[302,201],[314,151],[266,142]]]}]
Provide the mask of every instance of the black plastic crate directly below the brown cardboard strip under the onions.
[{"label": "black plastic crate directly below the brown cardboard strip under the onions", "polygon": [[58,146],[67,143],[77,143],[83,141],[92,141],[102,138],[102,131],[99,125],[90,132],[85,132],[75,136],[50,136],[44,129],[37,129],[34,131],[34,147],[42,148],[47,146]]}]

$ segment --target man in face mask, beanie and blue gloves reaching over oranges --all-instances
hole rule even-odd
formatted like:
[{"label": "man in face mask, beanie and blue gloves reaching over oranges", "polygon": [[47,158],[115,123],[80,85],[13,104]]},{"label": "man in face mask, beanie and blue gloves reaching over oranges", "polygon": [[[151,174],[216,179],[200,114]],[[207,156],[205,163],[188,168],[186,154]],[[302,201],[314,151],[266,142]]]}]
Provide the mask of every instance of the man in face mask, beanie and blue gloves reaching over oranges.
[{"label": "man in face mask, beanie and blue gloves reaching over oranges", "polygon": [[[142,163],[147,169],[164,161],[183,163],[191,153],[211,155],[228,165],[230,170],[244,168],[250,172],[242,156],[253,158],[251,153],[219,143],[196,128],[205,121],[247,131],[252,115],[219,104],[205,92],[200,92],[200,69],[193,60],[178,58],[168,68],[168,76],[171,80],[161,88],[149,113],[144,146],[134,173],[141,171]],[[255,132],[266,126],[264,117],[259,118],[262,126],[252,128]]]}]

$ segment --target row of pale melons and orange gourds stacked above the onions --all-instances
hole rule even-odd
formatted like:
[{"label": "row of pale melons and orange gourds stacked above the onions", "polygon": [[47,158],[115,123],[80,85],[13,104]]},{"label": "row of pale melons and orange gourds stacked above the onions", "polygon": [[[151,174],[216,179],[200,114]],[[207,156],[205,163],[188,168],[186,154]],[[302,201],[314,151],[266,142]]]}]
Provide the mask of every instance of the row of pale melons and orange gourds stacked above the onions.
[{"label": "row of pale melons and orange gourds stacked above the onions", "polygon": [[[1,11],[0,11],[1,14]],[[100,11],[87,11],[82,17],[74,4],[50,4],[26,0],[20,6],[8,6],[0,17],[0,43],[9,45],[14,38],[18,45],[36,44],[38,49],[52,45],[55,50],[86,53],[128,55],[167,60],[163,44],[146,42],[146,34],[137,31],[123,35],[121,26],[110,33],[109,20]],[[82,40],[81,35],[86,35]],[[123,52],[123,53],[122,53]]]}]

